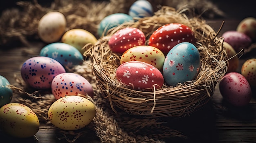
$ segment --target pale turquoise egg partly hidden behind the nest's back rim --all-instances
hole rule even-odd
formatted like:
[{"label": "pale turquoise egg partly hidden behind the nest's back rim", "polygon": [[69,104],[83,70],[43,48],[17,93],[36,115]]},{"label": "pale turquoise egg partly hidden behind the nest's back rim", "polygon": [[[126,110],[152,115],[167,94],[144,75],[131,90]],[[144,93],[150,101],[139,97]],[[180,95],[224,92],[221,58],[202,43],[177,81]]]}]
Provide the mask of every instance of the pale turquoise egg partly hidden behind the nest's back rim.
[{"label": "pale turquoise egg partly hidden behind the nest's back rim", "polygon": [[114,13],[106,16],[99,23],[98,35],[106,36],[108,31],[114,27],[119,26],[125,22],[134,22],[133,18],[126,13]]}]

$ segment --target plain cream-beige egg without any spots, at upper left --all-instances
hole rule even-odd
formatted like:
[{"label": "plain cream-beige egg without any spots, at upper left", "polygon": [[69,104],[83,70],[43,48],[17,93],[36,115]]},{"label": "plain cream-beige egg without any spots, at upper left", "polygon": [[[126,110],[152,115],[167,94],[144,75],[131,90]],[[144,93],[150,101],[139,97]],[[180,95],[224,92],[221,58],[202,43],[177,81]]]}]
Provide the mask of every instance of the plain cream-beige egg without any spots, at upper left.
[{"label": "plain cream-beige egg without any spots, at upper left", "polygon": [[65,32],[67,21],[65,16],[58,12],[48,12],[38,22],[38,36],[46,43],[57,42]]}]

